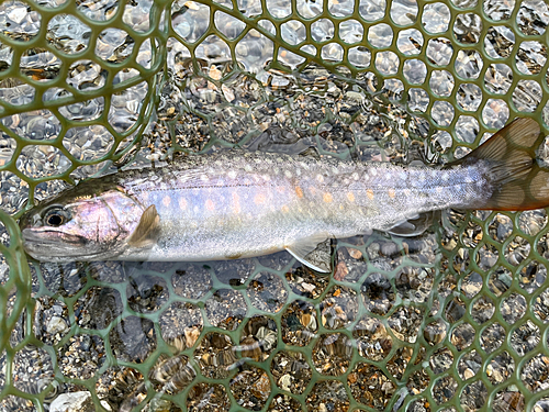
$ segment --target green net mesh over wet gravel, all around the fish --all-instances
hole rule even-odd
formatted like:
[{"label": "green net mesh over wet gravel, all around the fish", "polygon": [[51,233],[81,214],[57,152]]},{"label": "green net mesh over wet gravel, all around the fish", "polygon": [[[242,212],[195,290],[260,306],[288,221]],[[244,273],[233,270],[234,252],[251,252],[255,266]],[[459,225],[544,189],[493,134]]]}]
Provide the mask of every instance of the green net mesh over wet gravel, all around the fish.
[{"label": "green net mesh over wet gravel, all around the fish", "polygon": [[0,410],[548,411],[544,210],[343,240],[330,276],[38,264],[15,222],[179,151],[442,163],[547,131],[548,24],[539,0],[1,2]]}]

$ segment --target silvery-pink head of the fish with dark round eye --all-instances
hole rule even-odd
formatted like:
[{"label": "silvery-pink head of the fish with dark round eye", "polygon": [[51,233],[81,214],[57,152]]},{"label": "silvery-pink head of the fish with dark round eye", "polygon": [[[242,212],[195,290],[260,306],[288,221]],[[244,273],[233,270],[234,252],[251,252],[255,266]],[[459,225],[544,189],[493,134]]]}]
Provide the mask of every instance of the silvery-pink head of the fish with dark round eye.
[{"label": "silvery-pink head of the fish with dark round eye", "polygon": [[109,260],[122,252],[142,208],[121,190],[86,189],[79,185],[23,214],[20,227],[29,255],[66,263]]}]

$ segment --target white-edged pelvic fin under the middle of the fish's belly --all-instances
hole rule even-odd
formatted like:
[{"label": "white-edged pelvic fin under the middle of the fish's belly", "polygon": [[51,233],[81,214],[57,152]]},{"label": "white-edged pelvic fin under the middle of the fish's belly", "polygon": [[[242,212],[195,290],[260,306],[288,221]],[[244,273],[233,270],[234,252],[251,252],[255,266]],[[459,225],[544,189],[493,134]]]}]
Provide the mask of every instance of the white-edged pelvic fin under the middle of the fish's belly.
[{"label": "white-edged pelvic fin under the middle of the fish's belly", "polygon": [[303,265],[313,270],[332,271],[330,238],[327,234],[300,240],[285,249]]}]

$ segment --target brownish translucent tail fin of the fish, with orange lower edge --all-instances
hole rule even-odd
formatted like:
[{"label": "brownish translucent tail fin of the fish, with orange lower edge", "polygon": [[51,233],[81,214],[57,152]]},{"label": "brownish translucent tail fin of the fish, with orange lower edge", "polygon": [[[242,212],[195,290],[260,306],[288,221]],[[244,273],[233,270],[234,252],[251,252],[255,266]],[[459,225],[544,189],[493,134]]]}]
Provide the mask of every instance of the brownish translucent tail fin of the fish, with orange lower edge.
[{"label": "brownish translucent tail fin of the fish, with orange lower edge", "polygon": [[477,209],[530,210],[549,205],[549,171],[536,162],[544,141],[533,119],[516,119],[457,164],[486,160],[494,191]]}]

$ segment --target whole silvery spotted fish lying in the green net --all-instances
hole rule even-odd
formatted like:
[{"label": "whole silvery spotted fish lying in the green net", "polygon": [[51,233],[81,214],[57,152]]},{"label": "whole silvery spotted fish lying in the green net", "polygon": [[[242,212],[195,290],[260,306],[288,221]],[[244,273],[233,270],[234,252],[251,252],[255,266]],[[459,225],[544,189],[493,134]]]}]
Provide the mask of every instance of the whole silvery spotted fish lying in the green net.
[{"label": "whole silvery spotted fish lying in the green net", "polygon": [[[536,156],[538,123],[519,118],[445,166],[226,151],[128,169],[40,202],[20,220],[40,261],[208,261],[288,250],[317,271],[318,245],[395,233],[449,208],[518,211],[549,205]],[[413,231],[412,231],[413,232]],[[416,234],[416,233],[413,233]]]}]

